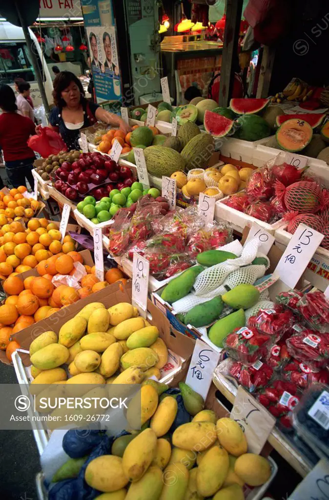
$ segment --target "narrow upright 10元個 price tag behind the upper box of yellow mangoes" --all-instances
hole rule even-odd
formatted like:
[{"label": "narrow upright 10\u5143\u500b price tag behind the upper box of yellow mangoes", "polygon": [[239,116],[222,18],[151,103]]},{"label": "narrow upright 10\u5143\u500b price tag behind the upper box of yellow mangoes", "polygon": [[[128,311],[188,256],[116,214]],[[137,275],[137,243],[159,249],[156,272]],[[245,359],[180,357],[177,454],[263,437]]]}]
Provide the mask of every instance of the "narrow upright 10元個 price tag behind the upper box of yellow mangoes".
[{"label": "narrow upright 10\u5143\u500b price tag behind the upper box of yellow mangoes", "polygon": [[131,303],[139,310],[142,317],[147,312],[147,291],[149,277],[149,262],[134,252],[132,260],[132,297]]}]

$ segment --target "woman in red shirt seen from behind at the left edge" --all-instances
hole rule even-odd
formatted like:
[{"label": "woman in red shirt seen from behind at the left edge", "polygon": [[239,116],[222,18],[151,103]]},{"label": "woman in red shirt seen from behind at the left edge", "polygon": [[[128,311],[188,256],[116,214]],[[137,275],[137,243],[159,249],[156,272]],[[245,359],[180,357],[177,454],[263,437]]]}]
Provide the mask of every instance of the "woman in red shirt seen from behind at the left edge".
[{"label": "woman in red shirt seen from behind at the left edge", "polygon": [[13,187],[26,186],[25,177],[34,188],[32,176],[34,153],[27,146],[35,124],[27,116],[17,113],[16,98],[9,85],[0,86],[0,147],[3,151],[5,170]]}]

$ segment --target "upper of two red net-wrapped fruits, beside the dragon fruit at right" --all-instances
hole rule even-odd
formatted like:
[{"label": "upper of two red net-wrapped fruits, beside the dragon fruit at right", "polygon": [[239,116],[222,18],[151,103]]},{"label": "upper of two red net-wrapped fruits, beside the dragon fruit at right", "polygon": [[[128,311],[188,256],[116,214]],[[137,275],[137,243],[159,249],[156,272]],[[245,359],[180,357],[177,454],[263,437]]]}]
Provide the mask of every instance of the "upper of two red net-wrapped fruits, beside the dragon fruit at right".
[{"label": "upper of two red net-wrapped fruits, beside the dragon fruit at right", "polygon": [[317,182],[299,180],[285,187],[282,182],[275,180],[274,188],[275,195],[283,200],[287,210],[315,213],[329,203],[326,189],[322,189]]}]

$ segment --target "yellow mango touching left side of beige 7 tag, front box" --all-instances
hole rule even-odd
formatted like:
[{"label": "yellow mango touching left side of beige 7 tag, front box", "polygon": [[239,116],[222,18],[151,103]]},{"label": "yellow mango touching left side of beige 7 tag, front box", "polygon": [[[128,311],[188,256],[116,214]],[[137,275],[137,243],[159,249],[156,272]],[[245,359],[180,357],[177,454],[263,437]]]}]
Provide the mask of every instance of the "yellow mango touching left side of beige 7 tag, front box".
[{"label": "yellow mango touching left side of beige 7 tag, front box", "polygon": [[245,435],[235,420],[231,418],[219,418],[216,423],[218,441],[228,453],[239,456],[247,451],[247,441]]}]

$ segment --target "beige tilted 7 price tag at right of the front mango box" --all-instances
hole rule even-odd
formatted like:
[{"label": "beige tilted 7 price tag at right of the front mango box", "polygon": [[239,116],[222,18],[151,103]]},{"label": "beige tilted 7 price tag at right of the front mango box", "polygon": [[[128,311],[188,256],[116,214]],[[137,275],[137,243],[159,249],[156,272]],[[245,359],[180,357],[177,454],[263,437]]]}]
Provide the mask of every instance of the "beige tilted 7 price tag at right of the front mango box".
[{"label": "beige tilted 7 price tag at right of the front mango box", "polygon": [[[257,369],[257,366],[255,368]],[[258,369],[260,368],[261,366]],[[241,385],[239,385],[235,396],[230,418],[235,420],[242,428],[248,441],[248,451],[256,454],[260,453],[275,425],[275,418]]]}]

